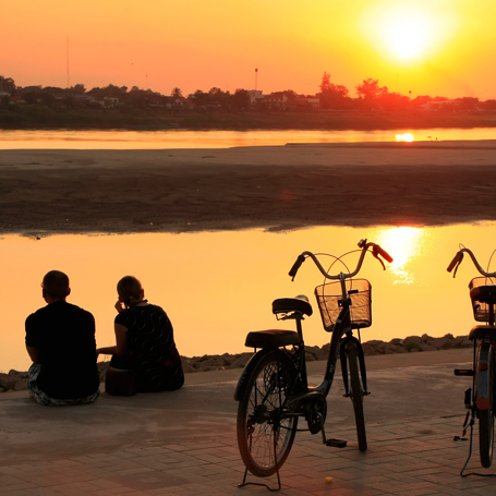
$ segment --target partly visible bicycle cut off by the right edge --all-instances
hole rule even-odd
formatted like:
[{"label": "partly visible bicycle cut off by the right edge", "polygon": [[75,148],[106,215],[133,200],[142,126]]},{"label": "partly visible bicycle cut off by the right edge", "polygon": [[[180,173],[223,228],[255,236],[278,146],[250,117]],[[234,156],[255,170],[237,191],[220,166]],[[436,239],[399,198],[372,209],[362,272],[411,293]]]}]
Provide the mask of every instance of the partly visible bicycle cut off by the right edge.
[{"label": "partly visible bicycle cut off by the right edge", "polygon": [[479,264],[472,251],[462,247],[457,252],[448,266],[448,273],[455,269],[453,277],[456,277],[458,267],[463,259],[463,253],[470,255],[475,268],[483,276],[473,278],[469,283],[469,289],[474,319],[476,322],[485,323],[484,325],[474,326],[469,332],[469,339],[473,341],[472,368],[455,370],[455,375],[457,376],[472,377],[472,388],[468,388],[464,392],[464,403],[469,411],[467,412],[463,423],[462,437],[465,436],[470,426],[470,449],[469,457],[460,475],[465,476],[463,475],[463,471],[472,453],[473,424],[475,423],[475,419],[479,419],[479,453],[481,464],[487,469],[493,462],[494,398],[496,394],[496,271],[485,271]]}]

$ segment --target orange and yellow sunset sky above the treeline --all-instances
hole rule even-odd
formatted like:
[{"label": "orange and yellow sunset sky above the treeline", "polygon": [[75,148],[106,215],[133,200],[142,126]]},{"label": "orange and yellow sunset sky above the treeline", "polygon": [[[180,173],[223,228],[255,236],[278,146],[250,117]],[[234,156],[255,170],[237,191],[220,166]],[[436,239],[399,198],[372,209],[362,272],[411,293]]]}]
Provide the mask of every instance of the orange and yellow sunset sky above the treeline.
[{"label": "orange and yellow sunset sky above the treeline", "polygon": [[[293,89],[324,71],[415,97],[496,98],[494,0],[2,0],[0,75],[17,86],[184,95]],[[69,43],[68,43],[69,40]],[[69,47],[69,50],[68,50]]]}]

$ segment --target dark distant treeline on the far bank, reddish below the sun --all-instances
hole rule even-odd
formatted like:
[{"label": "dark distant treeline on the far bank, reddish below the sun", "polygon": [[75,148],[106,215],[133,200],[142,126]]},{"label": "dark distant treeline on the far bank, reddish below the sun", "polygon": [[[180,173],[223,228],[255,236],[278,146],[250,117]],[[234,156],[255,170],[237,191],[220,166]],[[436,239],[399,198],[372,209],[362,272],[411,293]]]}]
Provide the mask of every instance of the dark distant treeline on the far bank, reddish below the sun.
[{"label": "dark distant treeline on the far bank, reddish below the sun", "polygon": [[133,86],[19,87],[0,76],[1,129],[399,129],[495,126],[496,100],[401,95],[364,80],[356,97],[324,73],[315,95],[197,89],[184,97]]}]

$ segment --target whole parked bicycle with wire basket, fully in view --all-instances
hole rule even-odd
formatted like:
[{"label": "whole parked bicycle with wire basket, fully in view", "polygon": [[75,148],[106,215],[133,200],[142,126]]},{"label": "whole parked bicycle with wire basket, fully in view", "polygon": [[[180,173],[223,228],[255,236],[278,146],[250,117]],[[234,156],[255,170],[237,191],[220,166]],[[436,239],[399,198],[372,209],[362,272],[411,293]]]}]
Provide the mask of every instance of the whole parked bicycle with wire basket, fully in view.
[{"label": "whole parked bicycle with wire basket, fully in view", "polygon": [[[307,384],[302,320],[305,316],[310,317],[313,310],[305,295],[273,302],[276,318],[295,320],[295,331],[269,329],[247,334],[245,346],[254,348],[255,352],[246,364],[234,394],[234,399],[239,401],[238,446],[246,469],[240,486],[250,484],[246,483],[250,471],[259,477],[277,473],[280,488],[279,469],[291,450],[299,418],[305,419],[312,434],[322,433],[324,444],[336,447],[347,445],[347,441],[340,439],[327,439],[324,430],[326,397],[332,385],[338,353],[344,383],[343,396],[351,398],[353,403],[359,448],[361,451],[367,449],[363,397],[368,395],[368,390],[360,329],[372,325],[372,288],[366,279],[354,279],[354,276],[359,274],[370,250],[384,269],[386,267],[379,256],[392,262],[378,244],[361,240],[356,268],[349,274],[328,274],[312,252],[299,255],[289,271],[294,280],[300,266],[310,257],[325,277],[325,283],[315,288],[315,297],[324,328],[331,332],[331,338],[326,372],[318,386]],[[344,265],[342,256],[334,258],[330,268],[338,261]],[[335,282],[327,282],[327,279]],[[353,329],[359,329],[359,338],[353,336]]]}]

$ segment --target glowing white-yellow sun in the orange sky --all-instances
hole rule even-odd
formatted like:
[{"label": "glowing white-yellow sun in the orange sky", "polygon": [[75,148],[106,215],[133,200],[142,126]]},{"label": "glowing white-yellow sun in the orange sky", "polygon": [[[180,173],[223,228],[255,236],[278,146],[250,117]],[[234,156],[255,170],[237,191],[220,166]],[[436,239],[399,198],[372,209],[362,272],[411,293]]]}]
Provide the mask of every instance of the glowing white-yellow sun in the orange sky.
[{"label": "glowing white-yellow sun in the orange sky", "polygon": [[450,19],[420,4],[383,2],[362,17],[367,41],[396,63],[414,63],[434,56],[451,33]]}]

